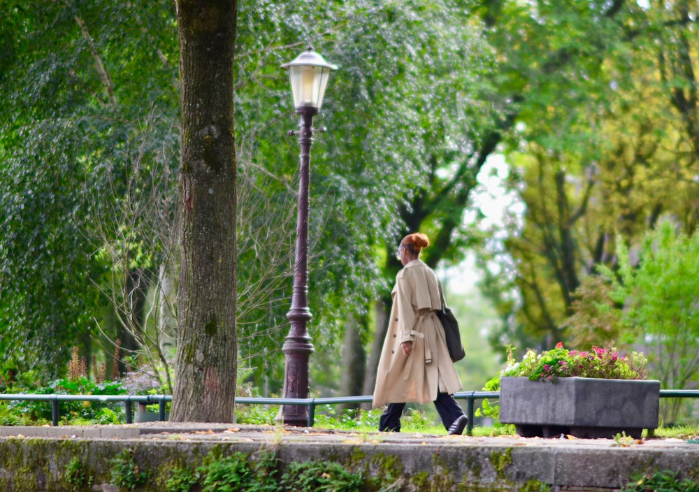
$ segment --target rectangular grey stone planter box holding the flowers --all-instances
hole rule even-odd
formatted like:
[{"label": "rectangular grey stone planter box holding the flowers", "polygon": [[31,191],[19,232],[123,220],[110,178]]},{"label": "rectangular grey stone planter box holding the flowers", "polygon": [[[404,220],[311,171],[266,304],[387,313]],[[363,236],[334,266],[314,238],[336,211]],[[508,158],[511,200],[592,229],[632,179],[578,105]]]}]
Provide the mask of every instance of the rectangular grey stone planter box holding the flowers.
[{"label": "rectangular grey stone planter box holding the flowers", "polygon": [[637,439],[658,427],[660,382],[559,377],[554,382],[526,377],[500,379],[500,422],[514,424],[523,437],[570,434]]}]

